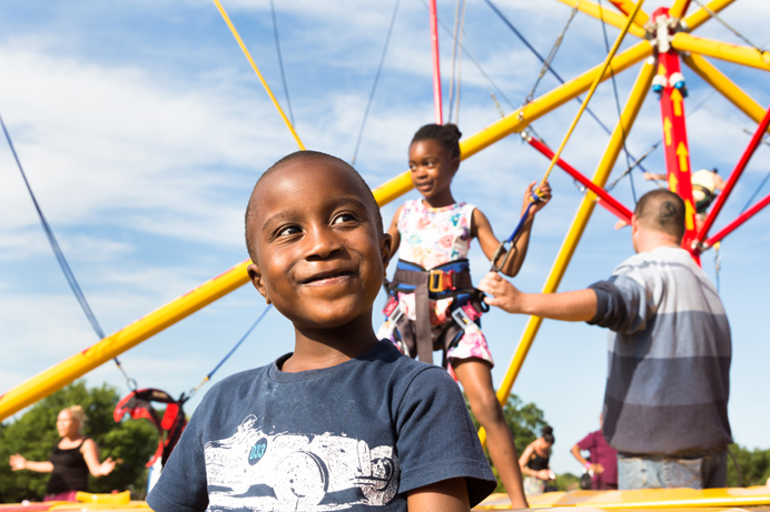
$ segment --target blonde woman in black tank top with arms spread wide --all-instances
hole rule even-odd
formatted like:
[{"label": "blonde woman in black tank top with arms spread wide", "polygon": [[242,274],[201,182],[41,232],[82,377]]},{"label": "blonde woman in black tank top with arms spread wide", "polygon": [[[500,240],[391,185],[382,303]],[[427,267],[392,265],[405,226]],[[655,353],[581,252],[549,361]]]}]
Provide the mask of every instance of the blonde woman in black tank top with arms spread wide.
[{"label": "blonde woman in black tank top with arms spread wide", "polygon": [[88,490],[89,472],[98,478],[111,473],[115,469],[111,458],[99,462],[99,448],[92,439],[82,434],[81,428],[86,419],[80,405],[73,405],[59,413],[56,426],[61,439],[53,446],[48,461],[28,461],[18,453],[11,455],[10,464],[13,471],[51,473],[43,501],[75,501],[78,491]]}]

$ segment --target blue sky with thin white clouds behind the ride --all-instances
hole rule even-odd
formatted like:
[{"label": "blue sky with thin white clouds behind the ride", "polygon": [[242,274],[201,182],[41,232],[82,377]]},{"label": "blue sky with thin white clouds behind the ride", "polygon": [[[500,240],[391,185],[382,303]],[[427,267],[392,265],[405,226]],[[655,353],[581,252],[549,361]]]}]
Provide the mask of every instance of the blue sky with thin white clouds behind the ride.
[{"label": "blue sky with thin white clouds behind the ride", "polygon": [[[604,2],[606,3],[606,2]],[[668,4],[648,1],[645,10]],[[547,54],[570,14],[560,2],[500,1],[509,19]],[[267,0],[224,1],[254,59],[286,106]],[[276,2],[280,47],[296,129],[310,149],[351,160],[394,2]],[[694,6],[694,2],[693,2]],[[440,1],[452,27],[454,2]],[[693,7],[694,9],[694,7]],[[754,44],[767,47],[770,4],[740,0],[723,19]],[[610,40],[618,31],[609,28]],[[710,21],[697,34],[741,41]],[[441,32],[444,101],[448,109],[451,38]],[[628,47],[633,42],[629,37]],[[480,0],[467,3],[464,43],[505,99],[517,108],[532,89],[540,62]],[[599,21],[578,14],[554,67],[565,78],[600,63],[605,54]],[[768,76],[713,61],[760,104],[770,102]],[[490,86],[467,57],[462,59],[458,123],[465,135],[500,118]],[[634,67],[618,77],[621,101]],[[685,109],[694,169],[734,167],[753,122],[684,70]],[[555,86],[546,76],[537,94]],[[701,107],[697,108],[703,100]],[[578,111],[571,102],[534,123],[556,147]],[[608,126],[618,119],[610,82],[591,102]],[[0,114],[24,170],[91,308],[111,333],[247,258],[243,212],[258,175],[296,145],[248,67],[214,3],[209,1],[60,1],[0,3]],[[446,110],[445,110],[446,118]],[[453,117],[453,120],[455,118]],[[372,187],[406,169],[414,131],[433,122],[433,86],[427,9],[403,1],[396,18],[356,168]],[[660,114],[651,93],[628,139],[641,155],[660,140]],[[584,117],[563,153],[591,174],[606,135]],[[717,228],[733,219],[770,171],[762,145],[739,182]],[[517,220],[526,183],[540,179],[547,160],[512,135],[461,165],[455,197],[480,205],[497,235]],[[662,172],[662,151],[645,161]],[[625,169],[621,155],[611,177]],[[571,179],[555,170],[554,199],[535,222],[530,254],[514,279],[525,291],[541,289],[581,200]],[[634,171],[636,192],[653,185]],[[770,187],[760,191],[760,198]],[[628,180],[615,189],[629,208]],[[408,194],[416,197],[415,192]],[[403,200],[403,199],[402,199]],[[392,218],[396,205],[383,208]],[[561,290],[606,278],[632,254],[628,230],[598,208]],[[475,245],[474,245],[475,247]],[[720,290],[733,335],[730,418],[737,442],[770,448],[764,341],[770,287],[766,253],[770,212],[731,234],[721,250]],[[488,268],[472,251],[476,280]],[[715,279],[714,254],[703,269]],[[382,305],[381,299],[376,308]],[[264,302],[243,287],[121,357],[142,388],[179,394],[195,386],[261,312]],[[496,311],[484,330],[500,382],[525,318]],[[375,314],[374,323],[379,323]],[[0,144],[0,392],[97,341],[40,228],[32,202],[4,142]],[[269,363],[292,350],[288,322],[269,313],[258,330],[215,375]],[[514,386],[545,411],[556,435],[553,466],[579,472],[569,450],[598,428],[606,372],[606,332],[585,324],[544,322]],[[90,384],[125,384],[112,363],[88,374]],[[191,411],[200,394],[188,405]]]}]

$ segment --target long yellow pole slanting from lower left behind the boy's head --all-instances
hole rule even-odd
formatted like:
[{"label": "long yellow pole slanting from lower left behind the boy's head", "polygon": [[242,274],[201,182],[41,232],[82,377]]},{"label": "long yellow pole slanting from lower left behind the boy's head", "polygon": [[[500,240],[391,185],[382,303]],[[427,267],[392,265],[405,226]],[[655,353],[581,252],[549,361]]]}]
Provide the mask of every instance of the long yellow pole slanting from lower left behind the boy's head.
[{"label": "long yellow pole slanting from lower left behind the boy's head", "polygon": [[[636,46],[615,56],[612,67],[615,72],[626,69],[652,53],[649,42],[640,41]],[[511,116],[487,127],[481,133],[461,142],[462,158],[465,159],[491,145],[503,137],[523,130],[530,122],[544,116],[557,106],[584,92],[599,70],[596,68],[581,74],[574,80],[556,88],[543,97],[529,103]],[[604,78],[609,78],[609,73]],[[408,171],[389,180],[374,190],[377,202],[383,205],[412,188]],[[76,354],[61,363],[45,370],[38,375],[22,382],[4,395],[0,395],[0,421],[14,414],[21,409],[34,403],[43,396],[63,388],[73,380],[85,375],[92,369],[109,361],[116,355],[145,341],[152,334],[195,313],[220,297],[229,293],[248,281],[246,267],[241,262],[215,278],[192,292],[182,295],[152,313],[137,320],[127,328],[105,338],[90,349]],[[115,344],[115,347],[111,347]],[[87,355],[87,357],[86,357]]]}]

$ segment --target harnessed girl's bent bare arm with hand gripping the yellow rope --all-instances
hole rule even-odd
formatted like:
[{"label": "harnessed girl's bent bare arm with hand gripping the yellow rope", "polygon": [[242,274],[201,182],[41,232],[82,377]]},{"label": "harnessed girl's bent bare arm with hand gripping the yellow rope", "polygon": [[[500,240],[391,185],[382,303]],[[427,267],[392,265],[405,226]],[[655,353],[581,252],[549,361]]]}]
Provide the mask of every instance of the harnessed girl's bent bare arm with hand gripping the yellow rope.
[{"label": "harnessed girl's bent bare arm with hand gripping the yellow rope", "polygon": [[[524,204],[522,205],[521,212],[522,215],[530,205],[530,198],[532,195],[532,190],[535,183],[536,182],[533,181],[526,188],[526,192],[524,193]],[[534,203],[530,209],[530,213],[521,228],[519,239],[516,240],[515,245],[511,248],[513,254],[511,255],[511,258],[509,258],[505,265],[502,269],[500,269],[500,271],[503,272],[505,275],[514,277],[519,273],[519,270],[522,268],[522,263],[524,263],[526,250],[530,247],[530,232],[532,231],[532,223],[534,222],[535,213],[542,210],[543,207],[545,207],[545,204],[551,200],[551,185],[547,181],[541,184],[540,191],[543,195],[543,199]],[[516,224],[513,224],[511,229],[513,230],[515,225]],[[473,210],[472,234],[478,238],[478,244],[481,245],[482,251],[484,251],[484,254],[491,261],[492,257],[497,250],[497,247],[500,245],[500,241],[494,235],[494,232],[492,231],[492,225],[490,224],[490,221],[486,219],[486,215],[484,215],[484,213],[482,213],[478,209]],[[502,261],[504,258],[504,254],[501,255],[498,262]]]}]

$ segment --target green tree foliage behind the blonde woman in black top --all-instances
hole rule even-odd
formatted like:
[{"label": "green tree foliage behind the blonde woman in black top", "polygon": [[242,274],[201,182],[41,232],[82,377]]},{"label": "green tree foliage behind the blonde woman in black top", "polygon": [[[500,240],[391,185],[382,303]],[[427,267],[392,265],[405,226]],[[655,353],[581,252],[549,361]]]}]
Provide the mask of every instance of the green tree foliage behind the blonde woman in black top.
[{"label": "green tree foliage behind the blonde woman in black top", "polygon": [[11,471],[8,460],[13,453],[32,461],[48,460],[59,440],[57,415],[71,405],[81,405],[86,411],[83,434],[96,441],[101,460],[108,456],[119,460],[109,475],[89,476],[90,491],[142,491],[147,480],[145,464],[157,449],[158,432],[148,421],[115,423],[112,411],[119,399],[111,385],[88,389],[80,380],[41,400],[18,420],[0,424],[0,502],[42,499],[49,474]]}]

